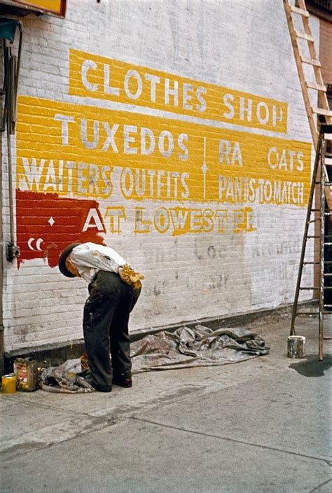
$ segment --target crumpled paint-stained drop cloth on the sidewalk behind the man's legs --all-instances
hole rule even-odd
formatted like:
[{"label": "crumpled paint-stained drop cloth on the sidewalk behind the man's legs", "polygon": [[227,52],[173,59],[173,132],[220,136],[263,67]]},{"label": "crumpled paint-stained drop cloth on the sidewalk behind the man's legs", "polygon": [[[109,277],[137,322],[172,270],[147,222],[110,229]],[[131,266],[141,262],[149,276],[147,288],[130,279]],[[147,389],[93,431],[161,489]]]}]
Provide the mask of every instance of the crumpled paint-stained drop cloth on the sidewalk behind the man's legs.
[{"label": "crumpled paint-stained drop cloth on the sidewalk behind the man's legs", "polygon": [[[173,333],[162,331],[156,335],[146,335],[132,342],[130,348],[132,373],[238,363],[268,354],[270,349],[260,335],[246,328],[212,330],[200,324],[195,328],[184,326]],[[94,391],[80,373],[80,359],[44,368],[41,388],[69,393]]]}]

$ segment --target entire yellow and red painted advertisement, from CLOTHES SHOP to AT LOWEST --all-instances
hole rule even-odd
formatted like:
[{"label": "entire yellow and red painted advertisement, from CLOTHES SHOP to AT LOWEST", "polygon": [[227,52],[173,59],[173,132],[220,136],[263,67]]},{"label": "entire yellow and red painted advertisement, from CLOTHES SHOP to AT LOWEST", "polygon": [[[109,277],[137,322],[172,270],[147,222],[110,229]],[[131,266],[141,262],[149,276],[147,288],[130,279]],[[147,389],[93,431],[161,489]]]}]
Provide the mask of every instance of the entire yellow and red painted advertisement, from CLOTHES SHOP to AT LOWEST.
[{"label": "entire yellow and red painted advertisement, from CLOTHES SHOP to AT LOWEST", "polygon": [[310,144],[215,122],[286,132],[285,103],[77,50],[69,92],[162,113],[18,98],[20,262],[123,232],[252,232],[258,204],[306,206]]}]

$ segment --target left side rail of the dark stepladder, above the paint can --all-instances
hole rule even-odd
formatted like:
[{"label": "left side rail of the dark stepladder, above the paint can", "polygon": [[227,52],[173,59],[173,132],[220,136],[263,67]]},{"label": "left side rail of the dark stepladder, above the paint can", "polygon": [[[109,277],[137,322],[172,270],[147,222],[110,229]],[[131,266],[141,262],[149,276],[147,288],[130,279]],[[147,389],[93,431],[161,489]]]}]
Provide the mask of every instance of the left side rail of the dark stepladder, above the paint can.
[{"label": "left side rail of the dark stepladder, above the paint can", "polygon": [[[294,296],[293,311],[292,311],[292,315],[291,315],[291,335],[296,335],[296,333],[295,333],[295,319],[296,319],[296,314],[297,314],[297,310],[298,310],[298,296],[300,293],[300,284],[301,284],[302,273],[303,273],[305,249],[307,246],[307,232],[309,230],[310,215],[312,213],[312,203],[313,203],[313,199],[314,199],[314,188],[316,186],[316,179],[317,179],[318,169],[319,169],[321,139],[322,139],[322,136],[321,136],[321,134],[319,134],[318,142],[317,142],[317,149],[316,149],[316,156],[314,158],[314,169],[312,171],[312,180],[311,180],[311,186],[310,186],[309,200],[307,203],[307,217],[305,219],[305,232],[304,232],[303,240],[302,240],[300,264],[298,265],[298,280],[296,282],[296,291],[295,291],[295,296]],[[324,190],[324,186],[323,186],[323,190]]]}]

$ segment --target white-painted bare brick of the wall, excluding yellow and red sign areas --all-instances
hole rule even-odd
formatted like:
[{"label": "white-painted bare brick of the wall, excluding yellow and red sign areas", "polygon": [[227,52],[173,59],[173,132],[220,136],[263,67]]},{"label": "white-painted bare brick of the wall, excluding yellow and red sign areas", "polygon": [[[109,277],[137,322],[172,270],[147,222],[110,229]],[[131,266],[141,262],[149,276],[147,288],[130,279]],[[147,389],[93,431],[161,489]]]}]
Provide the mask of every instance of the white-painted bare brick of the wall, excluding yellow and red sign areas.
[{"label": "white-painted bare brick of the wall, excluding yellow and red sign areas", "polygon": [[[310,141],[282,0],[102,0],[100,4],[71,0],[64,20],[29,15],[22,22],[20,95],[118,109],[116,103],[69,95],[69,49],[74,48],[286,102],[288,132],[276,137]],[[312,26],[317,36],[318,22],[313,20]],[[167,116],[139,106],[121,108]],[[218,127],[216,122],[211,125]],[[275,137],[273,132],[249,127],[228,128]],[[13,155],[15,159],[15,145]],[[6,244],[6,156],[3,200]],[[115,190],[112,202],[121,200]],[[146,200],[141,205],[153,211],[163,202]],[[204,202],[191,206],[207,207]],[[143,236],[134,235],[132,224],[126,223],[121,235],[108,233],[106,242],[146,275],[130,329],[227,317],[291,303],[305,209],[268,204],[254,208],[256,232],[172,237],[153,230]],[[6,349],[82,338],[86,294],[82,279],[64,279],[41,258],[23,262],[20,270],[15,262],[5,260]]]}]

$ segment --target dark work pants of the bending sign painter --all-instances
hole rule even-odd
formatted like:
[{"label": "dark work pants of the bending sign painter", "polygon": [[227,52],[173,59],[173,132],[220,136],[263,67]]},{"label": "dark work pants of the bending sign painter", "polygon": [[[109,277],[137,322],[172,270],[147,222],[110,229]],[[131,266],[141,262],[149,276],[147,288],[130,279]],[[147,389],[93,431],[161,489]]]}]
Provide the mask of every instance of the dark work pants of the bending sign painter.
[{"label": "dark work pants of the bending sign painter", "polygon": [[89,293],[83,315],[85,349],[93,387],[107,390],[113,376],[130,375],[128,321],[140,290],[123,282],[115,272],[99,270],[89,284]]}]

